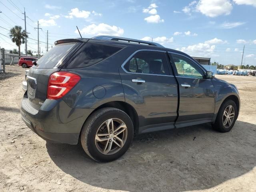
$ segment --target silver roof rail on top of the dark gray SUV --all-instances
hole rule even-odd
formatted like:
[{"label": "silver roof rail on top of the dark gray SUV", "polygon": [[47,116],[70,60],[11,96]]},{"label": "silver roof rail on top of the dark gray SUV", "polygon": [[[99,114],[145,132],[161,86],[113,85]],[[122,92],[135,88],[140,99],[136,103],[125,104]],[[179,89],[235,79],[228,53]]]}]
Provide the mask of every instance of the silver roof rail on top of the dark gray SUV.
[{"label": "silver roof rail on top of the dark gray SUV", "polygon": [[162,46],[158,43],[155,43],[155,42],[142,41],[142,40],[130,39],[130,38],[115,37],[115,36],[100,35],[100,36],[95,36],[92,39],[112,40],[112,41],[121,41],[121,42],[128,42],[128,43],[137,43],[137,44],[143,44],[143,45],[152,45],[152,46],[157,46],[157,47],[164,47],[164,46]]}]

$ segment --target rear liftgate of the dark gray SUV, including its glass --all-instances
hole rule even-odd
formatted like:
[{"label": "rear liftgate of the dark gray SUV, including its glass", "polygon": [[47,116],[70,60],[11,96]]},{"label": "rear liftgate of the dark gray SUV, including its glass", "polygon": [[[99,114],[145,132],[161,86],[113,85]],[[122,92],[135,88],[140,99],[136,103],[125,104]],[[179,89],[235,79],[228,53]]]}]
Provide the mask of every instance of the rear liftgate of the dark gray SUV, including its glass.
[{"label": "rear liftgate of the dark gray SUV, including its glass", "polygon": [[54,46],[36,62],[36,66],[33,65],[29,70],[27,94],[30,104],[37,110],[46,100],[50,75],[60,70],[56,66],[64,62],[69,54],[72,54],[72,50],[78,46],[77,44],[81,43],[69,42]]}]

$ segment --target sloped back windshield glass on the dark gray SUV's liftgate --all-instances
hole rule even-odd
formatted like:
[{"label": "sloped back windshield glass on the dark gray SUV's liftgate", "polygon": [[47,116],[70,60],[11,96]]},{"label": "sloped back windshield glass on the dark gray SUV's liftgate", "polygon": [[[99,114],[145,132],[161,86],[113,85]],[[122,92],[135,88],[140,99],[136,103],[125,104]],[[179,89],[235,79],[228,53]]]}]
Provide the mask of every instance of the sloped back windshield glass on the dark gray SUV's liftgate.
[{"label": "sloped back windshield glass on the dark gray SUV's liftgate", "polygon": [[33,66],[36,68],[54,68],[54,66],[61,60],[61,58],[75,45],[72,43],[63,43],[54,46],[46,54],[44,54]]}]

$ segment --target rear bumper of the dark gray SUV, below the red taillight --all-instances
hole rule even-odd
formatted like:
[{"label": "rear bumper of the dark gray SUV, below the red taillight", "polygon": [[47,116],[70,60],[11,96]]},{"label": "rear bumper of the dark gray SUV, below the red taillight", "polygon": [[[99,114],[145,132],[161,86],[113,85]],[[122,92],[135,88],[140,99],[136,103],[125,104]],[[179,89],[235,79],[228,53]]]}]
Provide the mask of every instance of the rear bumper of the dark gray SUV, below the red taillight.
[{"label": "rear bumper of the dark gray SUV, below the red taillight", "polygon": [[66,144],[78,143],[82,126],[92,111],[70,108],[62,99],[46,99],[41,107],[36,107],[26,96],[20,109],[22,120],[38,136]]}]

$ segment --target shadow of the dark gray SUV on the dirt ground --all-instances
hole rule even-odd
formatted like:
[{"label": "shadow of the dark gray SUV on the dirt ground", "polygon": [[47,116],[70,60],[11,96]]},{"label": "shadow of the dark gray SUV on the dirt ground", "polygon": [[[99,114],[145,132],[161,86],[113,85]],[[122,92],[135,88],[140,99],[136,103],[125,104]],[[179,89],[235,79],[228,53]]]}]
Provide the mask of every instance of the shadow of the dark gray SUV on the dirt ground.
[{"label": "shadow of the dark gray SUV on the dirt ground", "polygon": [[212,188],[252,170],[256,125],[237,121],[228,133],[209,124],[142,134],[120,159],[91,160],[80,145],[46,143],[50,158],[65,173],[92,186],[137,191]]}]

